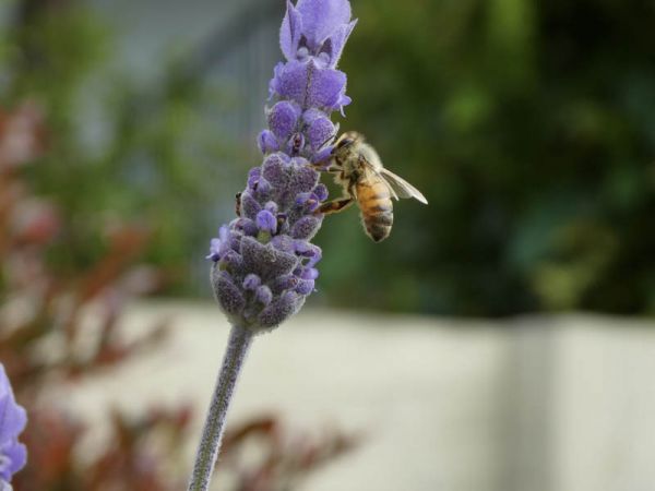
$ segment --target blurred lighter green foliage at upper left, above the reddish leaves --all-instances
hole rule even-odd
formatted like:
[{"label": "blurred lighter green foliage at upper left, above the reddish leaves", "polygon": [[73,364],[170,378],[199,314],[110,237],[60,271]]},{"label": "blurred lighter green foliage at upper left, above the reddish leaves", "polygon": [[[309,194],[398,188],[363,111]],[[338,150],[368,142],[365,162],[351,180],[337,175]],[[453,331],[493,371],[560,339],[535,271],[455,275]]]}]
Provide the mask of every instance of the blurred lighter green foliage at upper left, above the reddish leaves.
[{"label": "blurred lighter green foliage at upper left, above the reddish leaves", "polygon": [[174,62],[150,84],[112,68],[112,35],[83,2],[16,11],[0,49],[11,73],[2,99],[36,100],[47,118],[48,148],[28,178],[74,223],[53,263],[61,274],[92,264],[114,224],[130,219],[152,233],[145,256],[175,278],[168,292],[188,292],[184,272],[215,229],[206,211],[225,172],[215,163],[235,153],[207,131],[202,109],[217,96]]}]

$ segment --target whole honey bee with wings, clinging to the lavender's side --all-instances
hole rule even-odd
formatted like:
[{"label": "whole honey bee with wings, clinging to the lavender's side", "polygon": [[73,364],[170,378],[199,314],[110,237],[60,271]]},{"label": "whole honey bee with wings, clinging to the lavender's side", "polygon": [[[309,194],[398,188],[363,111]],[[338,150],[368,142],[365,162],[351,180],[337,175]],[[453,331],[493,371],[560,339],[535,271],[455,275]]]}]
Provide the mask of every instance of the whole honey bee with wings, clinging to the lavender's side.
[{"label": "whole honey bee with wings, clinging to the lavender's side", "polygon": [[342,134],[330,154],[329,165],[318,165],[321,170],[334,173],[345,196],[323,204],[318,213],[338,213],[354,202],[359,205],[364,229],[374,242],[391,233],[393,202],[391,199],[414,197],[424,204],[428,200],[409,182],[384,168],[372,146],[365,143],[360,133]]}]

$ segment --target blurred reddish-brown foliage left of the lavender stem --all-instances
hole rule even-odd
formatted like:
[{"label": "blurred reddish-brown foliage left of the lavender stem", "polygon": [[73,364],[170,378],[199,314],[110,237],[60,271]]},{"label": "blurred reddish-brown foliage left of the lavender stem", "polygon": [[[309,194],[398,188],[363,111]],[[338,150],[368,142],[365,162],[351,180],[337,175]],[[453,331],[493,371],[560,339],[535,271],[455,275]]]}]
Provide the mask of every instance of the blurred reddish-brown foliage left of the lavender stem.
[{"label": "blurred reddish-brown foliage left of the lavender stem", "polygon": [[[46,134],[35,105],[0,110],[0,360],[29,415],[22,436],[28,464],[14,477],[14,489],[179,489],[180,480],[166,469],[177,458],[188,408],[154,410],[136,420],[115,412],[108,444],[88,459],[79,455],[87,428],[74,414],[44,403],[57,384],[93,376],[165,334],[162,324],[132,342],[117,335],[126,301],[154,290],[164,277],[135,263],[147,243],[143,229],[115,227],[105,254],[86,271],[60,277],[49,267],[48,248],[66,224],[51,202],[33,195],[22,173],[24,165],[47,152]],[[84,315],[90,309],[93,325]],[[80,340],[90,335],[94,343],[82,348]],[[160,434],[170,438],[155,451],[151,440]]]}]

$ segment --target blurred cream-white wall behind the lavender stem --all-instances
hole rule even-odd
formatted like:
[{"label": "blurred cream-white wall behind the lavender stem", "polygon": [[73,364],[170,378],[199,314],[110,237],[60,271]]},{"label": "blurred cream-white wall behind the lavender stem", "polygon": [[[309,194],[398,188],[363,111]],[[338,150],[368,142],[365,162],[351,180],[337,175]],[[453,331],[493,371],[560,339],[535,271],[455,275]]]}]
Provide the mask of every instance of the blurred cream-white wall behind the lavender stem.
[{"label": "blurred cream-white wall behind the lavender stem", "polygon": [[[162,349],[61,399],[92,420],[112,404],[191,400],[200,415],[228,326],[214,306],[146,304],[127,335],[162,315],[175,321]],[[368,433],[306,491],[651,491],[653,373],[653,322],[306,310],[255,340],[229,421],[274,410],[289,428]]]}]

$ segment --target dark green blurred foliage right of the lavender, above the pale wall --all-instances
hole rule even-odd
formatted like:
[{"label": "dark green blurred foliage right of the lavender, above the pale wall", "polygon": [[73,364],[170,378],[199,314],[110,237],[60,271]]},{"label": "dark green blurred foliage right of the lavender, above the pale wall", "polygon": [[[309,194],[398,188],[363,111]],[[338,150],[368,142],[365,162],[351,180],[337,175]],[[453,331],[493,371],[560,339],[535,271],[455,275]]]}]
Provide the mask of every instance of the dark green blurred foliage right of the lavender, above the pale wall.
[{"label": "dark green blurred foliage right of the lavender, above the pale wall", "polygon": [[[641,1],[354,4],[344,129],[430,202],[326,220],[334,301],[448,314],[655,312],[655,31]],[[350,258],[357,258],[356,261]],[[336,267],[336,264],[342,264]]]}]

